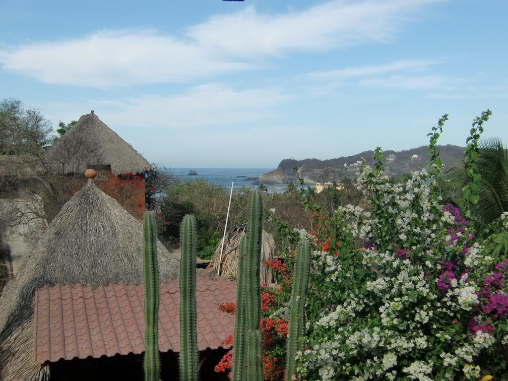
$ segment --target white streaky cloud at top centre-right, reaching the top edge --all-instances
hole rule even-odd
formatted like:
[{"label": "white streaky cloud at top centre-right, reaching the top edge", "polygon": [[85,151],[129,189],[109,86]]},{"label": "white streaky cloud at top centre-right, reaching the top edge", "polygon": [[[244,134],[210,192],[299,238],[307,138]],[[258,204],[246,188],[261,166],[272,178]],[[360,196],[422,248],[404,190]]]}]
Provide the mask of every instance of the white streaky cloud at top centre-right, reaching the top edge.
[{"label": "white streaky cloud at top centre-right, reaching the top edge", "polygon": [[190,27],[202,45],[240,57],[328,50],[389,39],[409,13],[433,0],[335,0],[303,12],[258,14],[254,7]]}]

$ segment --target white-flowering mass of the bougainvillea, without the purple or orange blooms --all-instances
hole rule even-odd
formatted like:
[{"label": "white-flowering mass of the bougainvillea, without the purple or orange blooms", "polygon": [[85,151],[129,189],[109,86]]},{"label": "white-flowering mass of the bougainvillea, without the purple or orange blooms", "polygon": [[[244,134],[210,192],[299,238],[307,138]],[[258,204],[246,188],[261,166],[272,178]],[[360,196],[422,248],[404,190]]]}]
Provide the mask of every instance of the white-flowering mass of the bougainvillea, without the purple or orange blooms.
[{"label": "white-flowering mass of the bougainvillea, without the purple or orange blooms", "polygon": [[[342,288],[330,291],[329,296],[336,298],[330,303],[333,305],[307,323],[308,331],[317,334],[299,353],[299,370],[319,374],[323,380],[430,381],[436,370],[440,379],[457,379],[463,364],[474,364],[494,342],[489,333],[478,331],[474,337],[458,337],[450,327],[452,321],[460,323],[457,316],[464,316],[464,311],[472,311],[479,304],[480,287],[473,275],[495,263],[494,259],[486,256],[478,243],[464,243],[466,233],[470,234],[467,230],[448,231],[454,227],[456,216],[439,211],[439,198],[435,193],[431,197],[435,180],[425,170],[415,172],[404,184],[393,184],[363,166],[358,186],[370,198],[372,213],[346,206],[337,209],[336,217],[342,218],[344,229],[357,242],[374,243],[374,247],[359,249],[347,264],[340,255],[335,258],[328,252],[314,251],[314,274],[323,276],[330,289],[341,284]],[[508,224],[508,212],[502,220]],[[381,242],[378,235],[386,231],[390,240]],[[392,238],[396,241],[393,248]],[[375,249],[380,247],[383,250]],[[447,267],[451,265],[443,258],[448,258],[449,252],[459,253],[463,262]],[[467,267],[469,272],[458,276],[456,266]],[[450,278],[437,278],[446,275],[449,268],[454,271]],[[345,286],[349,284],[354,287]],[[422,358],[429,347],[439,347],[442,352],[437,357]],[[400,363],[408,358],[412,360]],[[479,374],[476,365],[464,370],[468,379]]]}]

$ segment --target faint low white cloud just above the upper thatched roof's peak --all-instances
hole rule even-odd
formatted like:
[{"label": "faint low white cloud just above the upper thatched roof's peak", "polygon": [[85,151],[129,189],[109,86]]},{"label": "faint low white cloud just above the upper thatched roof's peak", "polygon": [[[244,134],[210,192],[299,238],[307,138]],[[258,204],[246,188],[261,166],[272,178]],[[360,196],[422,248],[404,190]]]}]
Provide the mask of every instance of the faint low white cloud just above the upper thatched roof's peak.
[{"label": "faint low white cloud just above the upper thatched roof's peak", "polygon": [[[118,101],[91,100],[79,104],[41,105],[48,117],[78,119],[91,109],[108,125],[191,133],[207,126],[244,123],[270,116],[272,107],[291,99],[277,88],[235,90],[224,84],[208,83],[190,88],[182,95],[146,95]],[[62,110],[66,114],[62,115]],[[57,116],[53,116],[57,115]],[[56,121],[54,119],[53,121]]]}]

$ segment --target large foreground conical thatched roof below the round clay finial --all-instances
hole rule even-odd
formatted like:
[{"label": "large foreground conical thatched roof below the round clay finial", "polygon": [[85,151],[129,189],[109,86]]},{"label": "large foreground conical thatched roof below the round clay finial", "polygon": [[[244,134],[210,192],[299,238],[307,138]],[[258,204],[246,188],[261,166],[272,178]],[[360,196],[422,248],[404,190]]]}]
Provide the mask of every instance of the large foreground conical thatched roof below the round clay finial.
[{"label": "large foreground conical thatched roof below the round clay finial", "polygon": [[[161,280],[176,277],[177,261],[160,242],[157,250]],[[141,223],[89,181],[63,206],[0,297],[0,379],[46,379],[33,357],[36,288],[138,283],[142,257]]]}]

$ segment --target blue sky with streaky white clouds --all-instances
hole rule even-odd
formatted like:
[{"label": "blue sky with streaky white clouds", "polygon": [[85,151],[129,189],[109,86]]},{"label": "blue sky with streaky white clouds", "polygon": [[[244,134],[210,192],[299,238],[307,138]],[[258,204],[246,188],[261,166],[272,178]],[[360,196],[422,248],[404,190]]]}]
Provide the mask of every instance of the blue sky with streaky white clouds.
[{"label": "blue sky with streaky white clouds", "polygon": [[276,168],[508,140],[505,0],[0,1],[0,100],[90,110],[149,162]]}]

